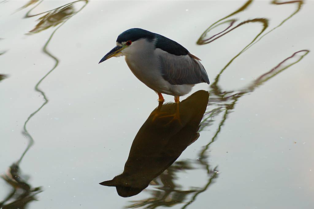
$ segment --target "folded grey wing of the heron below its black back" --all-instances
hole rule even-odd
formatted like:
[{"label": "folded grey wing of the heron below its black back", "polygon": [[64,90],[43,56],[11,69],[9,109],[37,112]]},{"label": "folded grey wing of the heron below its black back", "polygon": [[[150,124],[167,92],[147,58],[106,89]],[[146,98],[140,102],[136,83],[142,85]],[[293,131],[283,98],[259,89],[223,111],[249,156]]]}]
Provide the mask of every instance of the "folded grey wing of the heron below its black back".
[{"label": "folded grey wing of the heron below its black back", "polygon": [[156,49],[162,77],[172,85],[208,83],[203,65],[189,55],[173,55]]}]

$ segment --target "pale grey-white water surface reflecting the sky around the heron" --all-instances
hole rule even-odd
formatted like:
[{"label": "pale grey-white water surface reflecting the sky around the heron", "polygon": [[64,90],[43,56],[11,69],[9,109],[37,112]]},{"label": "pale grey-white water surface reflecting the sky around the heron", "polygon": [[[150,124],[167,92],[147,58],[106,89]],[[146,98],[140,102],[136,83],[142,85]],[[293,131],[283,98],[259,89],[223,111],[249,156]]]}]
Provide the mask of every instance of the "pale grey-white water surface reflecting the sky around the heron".
[{"label": "pale grey-white water surface reflecting the sky around the heron", "polygon": [[[42,53],[54,28],[24,35],[38,18],[23,19],[28,9],[14,13],[24,3],[6,2],[0,7],[0,38],[4,38],[0,49],[8,50],[0,56],[0,73],[10,75],[0,83],[1,172],[24,151],[24,121],[43,103],[34,85],[54,64]],[[43,2],[33,13],[65,3]],[[201,58],[213,82],[261,26],[244,25],[208,45],[199,46],[196,41],[209,25],[243,3],[92,1],[58,29],[48,50],[60,63],[40,85],[49,102],[28,124],[35,145],[21,164],[22,171],[31,176],[30,183],[44,188],[40,201],[32,202],[30,208],[122,208],[128,201],[148,198],[146,191],[121,198],[114,188],[98,183],[122,173],[134,136],[157,106],[157,95],[133,76],[123,58],[98,62],[115,45],[119,33],[140,27],[178,41]],[[241,89],[293,52],[313,50],[309,21],[313,6],[306,2],[292,19],[236,58],[219,85],[224,90]],[[293,11],[295,5],[257,1],[236,17],[240,21],[268,18],[268,31]],[[314,204],[310,198],[312,53],[238,101],[209,148],[209,163],[213,168],[218,165],[219,178],[189,208],[310,208]],[[193,91],[199,89],[209,88],[200,84]],[[169,102],[173,97],[165,99]],[[214,135],[215,129],[209,130],[201,132],[179,160],[196,159]],[[176,183],[183,188],[202,186],[207,178],[198,172],[180,173]],[[8,187],[3,181],[0,185],[2,200]]]}]

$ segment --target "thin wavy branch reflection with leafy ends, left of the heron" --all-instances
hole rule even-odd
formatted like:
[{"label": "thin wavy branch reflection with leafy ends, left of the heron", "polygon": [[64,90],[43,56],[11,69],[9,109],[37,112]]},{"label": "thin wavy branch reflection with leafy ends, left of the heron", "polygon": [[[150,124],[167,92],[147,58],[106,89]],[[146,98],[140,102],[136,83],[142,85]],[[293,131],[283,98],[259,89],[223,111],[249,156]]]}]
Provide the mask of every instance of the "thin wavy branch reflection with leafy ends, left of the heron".
[{"label": "thin wavy branch reflection with leafy ends, left of the heron", "polygon": [[[76,8],[75,4],[78,2],[84,3],[83,5],[80,5],[79,8]],[[37,4],[36,4],[37,3]],[[40,92],[41,95],[44,98],[44,103],[37,109],[35,112],[31,113],[30,116],[27,118],[27,120],[24,122],[24,127],[23,127],[23,132],[22,134],[24,135],[24,138],[28,139],[28,145],[25,149],[25,151],[22,153],[21,157],[17,162],[14,162],[7,170],[6,174],[1,175],[1,178],[5,180],[11,187],[11,191],[8,193],[7,197],[3,201],[0,202],[0,208],[2,209],[16,209],[16,208],[26,208],[26,205],[30,203],[31,201],[36,200],[36,195],[40,192],[42,192],[41,187],[35,187],[32,188],[32,186],[27,182],[29,178],[25,178],[22,176],[19,164],[21,160],[23,159],[24,155],[27,153],[27,151],[30,149],[30,147],[33,145],[34,140],[32,136],[29,134],[28,130],[26,129],[26,125],[30,118],[32,118],[42,107],[44,107],[48,99],[41,89],[39,89],[39,85],[41,82],[54,70],[56,69],[59,60],[53,56],[50,52],[47,50],[47,46],[49,42],[51,41],[54,33],[66,22],[68,19],[70,19],[73,15],[77,14],[79,11],[81,11],[85,5],[87,4],[87,1],[75,1],[72,3],[67,3],[61,7],[45,11],[39,14],[33,14],[29,15],[30,12],[37,7],[42,1],[29,1],[26,3],[23,7],[18,9],[18,11],[27,8],[33,4],[35,6],[31,8],[25,15],[25,18],[28,17],[34,17],[37,15],[44,14],[41,16],[38,20],[40,22],[34,27],[34,29],[30,30],[28,34],[32,33],[38,33],[43,30],[46,30],[52,26],[57,26],[59,25],[53,32],[51,33],[50,37],[46,41],[44,47],[43,47],[43,52],[51,57],[52,59],[55,60],[54,66],[46,73],[35,85],[35,91]],[[0,74],[0,80],[6,78],[5,75]]]}]

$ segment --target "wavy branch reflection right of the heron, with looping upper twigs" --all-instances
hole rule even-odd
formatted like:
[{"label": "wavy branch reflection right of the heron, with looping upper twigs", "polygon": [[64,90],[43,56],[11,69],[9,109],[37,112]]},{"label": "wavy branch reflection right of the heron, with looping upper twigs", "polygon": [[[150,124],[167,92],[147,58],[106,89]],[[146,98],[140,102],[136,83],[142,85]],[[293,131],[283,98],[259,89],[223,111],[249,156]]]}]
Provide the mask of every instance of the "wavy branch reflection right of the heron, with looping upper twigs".
[{"label": "wavy branch reflection right of the heron, with looping upper twigs", "polygon": [[[211,143],[213,143],[218,135],[219,132],[222,130],[222,127],[226,121],[226,119],[229,117],[229,114],[234,111],[236,103],[239,101],[239,99],[247,94],[252,93],[257,87],[261,86],[263,83],[268,81],[269,79],[273,78],[274,76],[278,75],[279,73],[283,72],[284,70],[288,69],[292,65],[300,62],[310,51],[309,50],[300,50],[297,52],[291,52],[292,55],[284,58],[282,61],[279,61],[279,63],[269,71],[261,74],[257,77],[256,80],[253,80],[250,85],[243,88],[242,90],[224,90],[219,85],[219,78],[220,76],[225,72],[225,70],[228,68],[228,66],[237,58],[239,57],[243,52],[245,52],[247,49],[252,47],[254,44],[256,44],[258,41],[261,41],[262,38],[269,33],[271,33],[273,30],[277,29],[281,25],[283,25],[288,19],[292,18],[296,13],[298,13],[301,9],[301,6],[303,5],[303,1],[288,1],[288,2],[281,2],[278,3],[277,1],[271,2],[271,4],[274,5],[280,5],[280,4],[295,4],[297,5],[296,10],[290,14],[288,17],[283,19],[279,25],[275,26],[273,29],[266,32],[268,28],[268,22],[269,20],[267,18],[255,18],[255,19],[249,19],[246,21],[243,21],[239,23],[238,25],[234,26],[237,19],[228,19],[229,17],[238,14],[251,5],[252,1],[247,1],[246,3],[241,6],[241,8],[237,9],[235,12],[225,16],[222,19],[219,19],[218,21],[214,22],[212,25],[208,27],[204,31],[204,33],[201,35],[201,37],[198,39],[197,44],[198,45],[204,45],[209,44],[212,41],[217,40],[218,38],[221,38],[222,36],[228,34],[230,31],[240,28],[241,25],[247,24],[247,23],[261,23],[262,29],[254,38],[252,41],[249,41],[249,43],[239,52],[237,53],[231,60],[225,65],[223,69],[220,70],[220,72],[217,74],[214,83],[210,85],[209,93],[210,98],[208,102],[207,111],[204,114],[203,121],[201,122],[201,128],[199,129],[199,132],[203,131],[207,127],[211,127],[211,129],[214,129],[214,125],[217,125],[217,129],[214,132],[211,140],[208,141],[208,143],[202,147],[202,149],[198,152],[198,161],[193,160],[183,160],[181,162],[174,162],[171,167],[169,167],[166,172],[169,173],[169,176],[165,176],[164,173],[162,173],[160,176],[155,178],[151,184],[156,184],[156,182],[159,182],[160,184],[163,184],[164,186],[161,186],[157,188],[158,190],[147,190],[149,192],[150,197],[143,199],[143,200],[137,200],[137,201],[130,201],[130,205],[126,206],[126,208],[136,208],[136,207],[143,207],[143,208],[156,208],[159,206],[173,206],[180,203],[184,203],[181,208],[187,208],[190,204],[195,202],[197,196],[206,191],[209,186],[214,182],[213,180],[217,177],[217,166],[215,168],[211,168],[209,165],[209,155],[208,155],[208,149]],[[214,29],[218,28],[220,26],[227,25],[224,29],[219,31],[216,34],[209,35],[209,32]],[[181,112],[181,111],[180,111]],[[198,164],[201,169],[204,170],[204,172],[207,174],[207,180],[204,181],[203,187],[199,188],[191,188],[186,191],[180,190],[181,185],[175,183],[175,176],[182,170],[188,171],[195,169],[193,168],[193,165]],[[181,166],[182,165],[182,166]],[[199,168],[198,168],[199,169]],[[171,187],[167,186],[171,185]],[[186,199],[189,198],[188,201]]]}]

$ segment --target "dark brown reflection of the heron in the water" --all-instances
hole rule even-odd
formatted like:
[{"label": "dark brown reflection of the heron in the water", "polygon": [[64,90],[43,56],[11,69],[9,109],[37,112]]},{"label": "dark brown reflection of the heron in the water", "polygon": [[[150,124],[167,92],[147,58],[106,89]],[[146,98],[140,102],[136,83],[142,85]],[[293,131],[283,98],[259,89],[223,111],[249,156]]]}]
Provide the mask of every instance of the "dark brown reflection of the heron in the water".
[{"label": "dark brown reflection of the heron in the water", "polygon": [[180,102],[181,123],[169,117],[155,117],[156,112],[167,115],[176,112],[176,104],[160,104],[135,136],[123,173],[100,184],[115,186],[122,197],[137,195],[145,189],[198,139],[208,96],[207,91],[201,90]]}]

